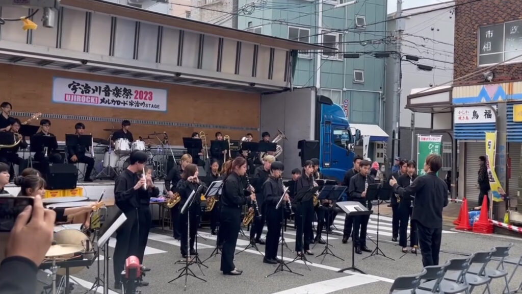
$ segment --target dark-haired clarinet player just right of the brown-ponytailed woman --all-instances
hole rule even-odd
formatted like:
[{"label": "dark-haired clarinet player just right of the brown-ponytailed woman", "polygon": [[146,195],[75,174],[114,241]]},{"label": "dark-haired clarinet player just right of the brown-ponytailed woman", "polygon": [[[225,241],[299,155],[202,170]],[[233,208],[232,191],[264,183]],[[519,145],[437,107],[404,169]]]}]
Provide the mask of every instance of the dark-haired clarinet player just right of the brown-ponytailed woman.
[{"label": "dark-haired clarinet player just right of the brown-ponytailed woman", "polygon": [[[270,176],[263,184],[263,196],[265,196],[266,205],[266,224],[268,231],[266,234],[265,258],[264,263],[277,264],[277,246],[279,245],[279,238],[282,226],[281,209],[286,207],[286,202],[281,202],[279,208],[276,209],[279,199],[283,195],[283,183],[281,182],[281,174],[284,170],[284,165],[280,161],[272,163],[270,166]],[[290,201],[288,193],[284,196],[284,201]]]}]

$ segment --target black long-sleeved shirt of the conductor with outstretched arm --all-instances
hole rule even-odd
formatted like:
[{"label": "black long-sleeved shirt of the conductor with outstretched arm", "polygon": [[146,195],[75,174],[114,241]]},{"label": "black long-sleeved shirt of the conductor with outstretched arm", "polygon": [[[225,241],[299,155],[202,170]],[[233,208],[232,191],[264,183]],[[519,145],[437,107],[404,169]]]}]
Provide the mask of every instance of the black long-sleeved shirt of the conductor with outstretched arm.
[{"label": "black long-sleeved shirt of the conductor with outstretched arm", "polygon": [[415,195],[412,220],[418,221],[424,227],[442,228],[442,209],[448,205],[448,187],[435,173],[429,172],[416,178],[406,188],[398,184],[393,188],[402,198]]}]

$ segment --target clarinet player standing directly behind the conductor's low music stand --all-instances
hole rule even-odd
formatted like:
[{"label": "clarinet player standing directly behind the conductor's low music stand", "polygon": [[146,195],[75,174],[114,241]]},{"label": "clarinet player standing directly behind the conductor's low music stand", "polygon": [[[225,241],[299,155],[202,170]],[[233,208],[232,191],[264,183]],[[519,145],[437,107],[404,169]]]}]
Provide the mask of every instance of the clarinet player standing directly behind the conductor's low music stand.
[{"label": "clarinet player standing directly behind the conductor's low music stand", "polygon": [[[359,165],[359,173],[350,178],[350,187],[348,188],[348,201],[357,201],[366,206],[368,210],[372,209],[372,202],[366,200],[366,190],[368,185],[373,183],[373,178],[370,176],[370,166],[372,163],[367,160],[361,161]],[[366,230],[370,216],[357,216],[353,218],[353,242],[355,244],[355,253],[362,254],[362,252],[372,252],[366,247]]]}]

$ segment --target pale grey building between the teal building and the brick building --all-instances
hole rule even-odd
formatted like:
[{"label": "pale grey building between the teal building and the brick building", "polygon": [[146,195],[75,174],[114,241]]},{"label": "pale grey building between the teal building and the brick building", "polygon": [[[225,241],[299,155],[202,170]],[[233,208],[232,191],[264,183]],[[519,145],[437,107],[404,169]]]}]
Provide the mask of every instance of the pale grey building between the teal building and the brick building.
[{"label": "pale grey building between the teal building and the brick building", "polygon": [[[452,80],[455,27],[453,5],[454,2],[450,1],[402,10],[404,15],[412,15],[404,18],[400,50],[402,78],[397,154],[404,159],[417,160],[417,135],[419,134],[442,134],[443,142],[445,142],[443,145],[451,144],[447,133],[432,131],[430,114],[412,112],[405,106],[407,96],[417,91],[418,88],[430,88]],[[444,7],[448,8],[441,9]],[[388,31],[396,30],[395,17],[395,13],[388,15],[388,19],[391,19],[388,21]],[[386,48],[387,51],[397,51],[397,43],[388,42]],[[406,55],[416,56],[419,60],[407,60]],[[417,68],[417,64],[431,66],[432,70],[421,71]],[[386,97],[394,97],[395,66],[393,57],[390,57],[386,64]],[[392,104],[386,106],[391,107]],[[386,115],[386,126],[390,126],[392,123],[392,115]],[[442,155],[444,157],[443,168],[449,170],[451,168],[451,149],[443,148]]]}]

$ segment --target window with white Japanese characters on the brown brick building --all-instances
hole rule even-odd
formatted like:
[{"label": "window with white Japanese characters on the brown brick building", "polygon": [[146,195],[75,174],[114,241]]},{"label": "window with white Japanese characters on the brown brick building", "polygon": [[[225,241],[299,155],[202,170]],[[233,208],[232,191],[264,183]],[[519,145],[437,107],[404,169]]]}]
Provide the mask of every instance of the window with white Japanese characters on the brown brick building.
[{"label": "window with white Japanese characters on the brown brick building", "polygon": [[479,65],[522,61],[522,20],[479,28]]}]

